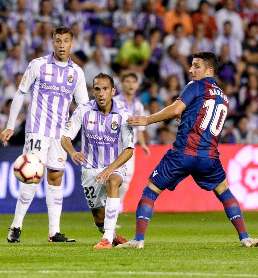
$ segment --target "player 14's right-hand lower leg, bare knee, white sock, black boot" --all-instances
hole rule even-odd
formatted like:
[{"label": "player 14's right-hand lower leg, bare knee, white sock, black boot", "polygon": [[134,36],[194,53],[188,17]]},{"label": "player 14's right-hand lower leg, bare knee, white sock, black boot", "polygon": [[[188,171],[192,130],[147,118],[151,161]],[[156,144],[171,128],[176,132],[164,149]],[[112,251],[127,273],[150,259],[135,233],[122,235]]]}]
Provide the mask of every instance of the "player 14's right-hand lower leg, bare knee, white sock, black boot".
[{"label": "player 14's right-hand lower leg, bare knee, white sock, black boot", "polygon": [[61,182],[63,173],[64,171],[47,169],[48,191],[46,202],[49,219],[48,242],[75,242],[74,239],[60,234],[60,216],[63,204]]}]

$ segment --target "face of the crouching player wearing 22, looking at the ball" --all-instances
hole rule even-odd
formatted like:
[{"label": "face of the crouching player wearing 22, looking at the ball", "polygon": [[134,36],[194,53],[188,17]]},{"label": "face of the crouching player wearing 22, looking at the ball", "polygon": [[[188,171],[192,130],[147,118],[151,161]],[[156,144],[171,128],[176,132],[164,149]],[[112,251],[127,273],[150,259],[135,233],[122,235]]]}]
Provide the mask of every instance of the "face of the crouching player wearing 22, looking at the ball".
[{"label": "face of the crouching player wearing 22, looking at the ball", "polygon": [[112,95],[115,94],[115,88],[111,88],[108,78],[96,78],[93,82],[93,95],[98,103],[100,112],[107,114],[111,110]]}]

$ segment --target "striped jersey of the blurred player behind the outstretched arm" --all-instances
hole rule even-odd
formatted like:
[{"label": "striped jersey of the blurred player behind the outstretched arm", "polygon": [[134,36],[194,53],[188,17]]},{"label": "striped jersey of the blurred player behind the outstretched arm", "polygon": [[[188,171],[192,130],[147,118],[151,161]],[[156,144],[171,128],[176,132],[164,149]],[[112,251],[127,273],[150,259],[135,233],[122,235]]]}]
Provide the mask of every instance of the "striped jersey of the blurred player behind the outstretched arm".
[{"label": "striped jersey of the blurred player behind the outstretched arm", "polygon": [[[133,103],[127,103],[123,93],[120,93],[119,95],[114,96],[113,99],[117,103],[119,103],[120,105],[125,107],[132,116],[144,115],[144,106],[139,101],[139,99],[137,99],[136,97],[134,97]],[[134,130],[134,143],[136,144],[138,141],[137,133],[138,133],[138,131],[144,131],[145,126],[134,126],[133,130]]]}]

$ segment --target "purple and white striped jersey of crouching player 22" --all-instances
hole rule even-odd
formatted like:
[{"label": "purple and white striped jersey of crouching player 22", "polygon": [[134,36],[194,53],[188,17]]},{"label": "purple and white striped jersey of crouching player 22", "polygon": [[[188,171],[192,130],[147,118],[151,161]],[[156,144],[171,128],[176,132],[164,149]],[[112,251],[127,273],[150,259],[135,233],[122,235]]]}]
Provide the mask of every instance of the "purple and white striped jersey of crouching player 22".
[{"label": "purple and white striped jersey of crouching player 22", "polygon": [[124,149],[134,147],[133,129],[126,122],[131,115],[119,103],[112,102],[108,114],[99,112],[96,100],[78,106],[64,129],[63,135],[72,140],[81,129],[81,151],[87,158],[82,166],[109,166]]}]

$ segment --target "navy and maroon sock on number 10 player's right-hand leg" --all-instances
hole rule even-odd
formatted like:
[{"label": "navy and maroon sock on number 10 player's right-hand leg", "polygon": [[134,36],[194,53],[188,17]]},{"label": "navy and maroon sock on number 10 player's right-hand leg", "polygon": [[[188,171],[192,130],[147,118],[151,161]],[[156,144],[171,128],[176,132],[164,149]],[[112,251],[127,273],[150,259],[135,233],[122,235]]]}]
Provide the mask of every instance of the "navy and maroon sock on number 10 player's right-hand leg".
[{"label": "navy and maroon sock on number 10 player's right-hand leg", "polygon": [[241,208],[229,188],[216,197],[222,202],[227,217],[238,232],[239,239],[248,238]]}]

